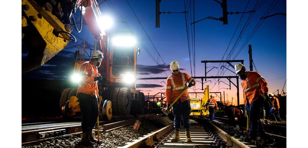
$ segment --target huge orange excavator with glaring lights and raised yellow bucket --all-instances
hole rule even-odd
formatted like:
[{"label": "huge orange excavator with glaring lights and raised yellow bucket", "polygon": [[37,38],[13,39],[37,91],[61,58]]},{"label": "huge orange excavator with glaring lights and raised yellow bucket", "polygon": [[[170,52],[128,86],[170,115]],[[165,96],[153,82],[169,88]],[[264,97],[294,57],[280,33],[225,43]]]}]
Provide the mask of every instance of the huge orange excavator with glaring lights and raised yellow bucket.
[{"label": "huge orange excavator with glaring lights and raised yellow bucket", "polygon": [[[80,29],[73,14],[80,10]],[[112,37],[101,28],[103,15],[96,0],[22,0],[22,43],[28,55],[22,63],[22,73],[39,68],[58,54],[72,40],[71,19],[77,32],[82,28],[82,16],[94,36],[94,49],[85,57],[85,48],[75,52],[74,72],[91,57],[92,51],[103,53],[98,68],[103,79],[99,81],[99,116],[111,120],[112,115],[144,113],[144,93],[136,90],[136,59],[140,48],[133,42],[131,31],[118,31]],[[122,40],[121,40],[122,39]],[[123,41],[124,39],[124,41]],[[126,43],[126,44],[119,44]],[[124,62],[123,62],[124,61]],[[77,85],[63,90],[59,106],[63,117],[80,114],[76,97]]]}]

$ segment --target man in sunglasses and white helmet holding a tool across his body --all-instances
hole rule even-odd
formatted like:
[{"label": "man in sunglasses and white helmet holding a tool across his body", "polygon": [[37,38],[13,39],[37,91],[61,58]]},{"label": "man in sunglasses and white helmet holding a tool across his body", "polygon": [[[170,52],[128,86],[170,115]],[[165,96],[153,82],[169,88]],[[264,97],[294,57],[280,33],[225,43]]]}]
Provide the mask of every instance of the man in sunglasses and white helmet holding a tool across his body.
[{"label": "man in sunglasses and white helmet holding a tool across his body", "polygon": [[[180,72],[180,65],[177,61],[172,61],[170,64],[172,73],[167,78],[166,82],[166,101],[167,108],[175,99],[185,90],[187,86],[192,87],[196,84],[196,81],[185,72]],[[175,129],[175,136],[171,138],[172,142],[180,141],[180,127],[181,117],[183,118],[183,127],[185,129],[186,141],[192,142],[190,135],[190,121],[189,115],[191,113],[190,97],[188,90],[181,95],[181,97],[172,105],[172,113],[174,115],[173,127]]]}]

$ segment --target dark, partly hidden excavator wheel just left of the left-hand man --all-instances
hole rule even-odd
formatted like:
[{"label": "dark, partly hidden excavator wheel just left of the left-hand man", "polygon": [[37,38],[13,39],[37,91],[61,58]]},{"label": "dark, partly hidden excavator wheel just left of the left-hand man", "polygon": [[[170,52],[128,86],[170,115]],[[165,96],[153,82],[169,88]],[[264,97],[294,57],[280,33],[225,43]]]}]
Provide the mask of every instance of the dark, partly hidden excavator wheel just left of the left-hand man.
[{"label": "dark, partly hidden excavator wheel just left of the left-hand man", "polygon": [[59,105],[63,114],[63,117],[71,117],[70,109],[68,108],[68,103],[72,96],[76,96],[77,88],[65,88],[61,93],[61,98]]}]

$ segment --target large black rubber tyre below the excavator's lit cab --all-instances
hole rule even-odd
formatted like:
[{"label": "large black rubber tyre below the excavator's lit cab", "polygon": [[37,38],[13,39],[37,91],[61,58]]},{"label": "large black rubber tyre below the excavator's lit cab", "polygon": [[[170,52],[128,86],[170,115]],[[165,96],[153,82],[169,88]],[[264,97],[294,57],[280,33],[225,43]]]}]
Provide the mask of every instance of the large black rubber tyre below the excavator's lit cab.
[{"label": "large black rubber tyre below the excavator's lit cab", "polygon": [[114,115],[128,115],[131,111],[131,90],[125,87],[116,87],[111,92],[112,112]]}]

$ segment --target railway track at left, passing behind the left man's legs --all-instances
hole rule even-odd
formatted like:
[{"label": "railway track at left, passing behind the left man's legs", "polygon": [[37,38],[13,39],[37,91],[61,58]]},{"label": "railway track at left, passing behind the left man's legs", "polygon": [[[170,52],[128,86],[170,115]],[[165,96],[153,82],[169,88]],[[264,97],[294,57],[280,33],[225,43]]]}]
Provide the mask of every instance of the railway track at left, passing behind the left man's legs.
[{"label": "railway track at left, passing behind the left man's legs", "polygon": [[[162,116],[163,114],[144,114],[140,115],[139,117],[115,117],[111,121],[99,121],[99,125],[100,130],[109,131],[126,125],[134,124],[136,120],[142,121],[146,118],[157,118]],[[80,121],[28,123],[22,125],[22,144],[80,133],[82,133]]]}]

